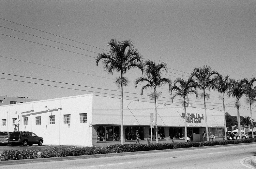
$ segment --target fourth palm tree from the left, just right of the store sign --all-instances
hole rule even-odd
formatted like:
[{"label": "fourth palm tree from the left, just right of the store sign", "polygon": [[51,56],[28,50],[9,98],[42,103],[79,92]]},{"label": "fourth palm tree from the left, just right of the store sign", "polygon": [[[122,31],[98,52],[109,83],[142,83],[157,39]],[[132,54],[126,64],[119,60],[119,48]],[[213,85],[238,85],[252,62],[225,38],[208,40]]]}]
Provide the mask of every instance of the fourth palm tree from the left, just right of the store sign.
[{"label": "fourth palm tree from the left, just right of the store sign", "polygon": [[[195,78],[197,83],[197,88],[203,90],[202,97],[204,101],[204,114],[205,114],[205,127],[206,127],[206,135],[208,135],[208,125],[207,125],[207,115],[206,115],[206,105],[205,105],[205,97],[209,98],[209,94],[205,93],[206,89],[209,89],[213,84],[215,79],[212,78],[214,75],[218,75],[218,72],[215,69],[211,69],[210,66],[204,65],[203,67],[194,68],[191,77]],[[207,141],[209,140],[209,136],[206,137]]]}]

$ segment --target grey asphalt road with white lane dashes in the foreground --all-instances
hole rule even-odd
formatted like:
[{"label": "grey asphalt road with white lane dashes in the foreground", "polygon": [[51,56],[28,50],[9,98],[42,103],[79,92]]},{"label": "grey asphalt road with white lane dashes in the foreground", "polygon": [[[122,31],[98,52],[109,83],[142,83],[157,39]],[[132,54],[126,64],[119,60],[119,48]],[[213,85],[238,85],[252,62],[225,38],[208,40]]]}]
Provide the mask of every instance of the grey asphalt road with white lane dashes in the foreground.
[{"label": "grey asphalt road with white lane dashes in the foreground", "polygon": [[240,164],[246,157],[256,157],[256,144],[236,144],[225,147],[205,147],[204,149],[155,152],[146,154],[120,155],[89,159],[65,161],[24,163],[16,165],[1,165],[1,168],[54,168],[54,169],[216,169],[216,168],[247,168]]}]

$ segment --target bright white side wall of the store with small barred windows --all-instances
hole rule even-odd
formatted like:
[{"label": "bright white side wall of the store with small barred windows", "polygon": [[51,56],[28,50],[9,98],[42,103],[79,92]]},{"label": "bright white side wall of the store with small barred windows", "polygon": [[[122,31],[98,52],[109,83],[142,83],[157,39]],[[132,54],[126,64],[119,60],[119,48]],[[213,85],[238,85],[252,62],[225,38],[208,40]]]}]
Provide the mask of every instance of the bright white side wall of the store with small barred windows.
[{"label": "bright white side wall of the store with small barred windows", "polygon": [[[22,116],[30,114],[27,116],[29,120],[28,126],[23,126],[22,117],[19,130],[31,131],[43,137],[43,144],[91,146],[92,127],[88,126],[92,122],[92,100],[92,94],[88,94],[0,106],[0,119],[8,119],[7,126],[1,126],[0,131],[13,131],[14,126],[11,126],[11,123],[12,118],[17,118],[18,114],[15,114],[15,111],[17,111]],[[60,107],[61,109],[58,109]],[[47,112],[48,108],[56,111]],[[32,115],[31,113],[38,114]],[[79,123],[80,113],[87,113],[87,123]],[[49,124],[49,115],[51,114],[55,115],[55,124],[52,125]],[[63,122],[63,115],[68,114],[70,114],[70,127]],[[37,116],[41,116],[41,125],[35,125],[35,117]]]}]

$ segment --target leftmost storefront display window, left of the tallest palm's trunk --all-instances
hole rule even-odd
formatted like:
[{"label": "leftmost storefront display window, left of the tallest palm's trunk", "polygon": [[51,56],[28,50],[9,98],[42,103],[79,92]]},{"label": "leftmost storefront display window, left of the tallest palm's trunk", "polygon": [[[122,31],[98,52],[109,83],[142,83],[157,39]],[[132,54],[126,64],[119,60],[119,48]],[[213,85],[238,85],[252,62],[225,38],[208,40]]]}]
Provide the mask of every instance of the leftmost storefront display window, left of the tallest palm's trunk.
[{"label": "leftmost storefront display window, left of the tallest palm's trunk", "polygon": [[119,141],[120,126],[97,126],[97,141]]}]

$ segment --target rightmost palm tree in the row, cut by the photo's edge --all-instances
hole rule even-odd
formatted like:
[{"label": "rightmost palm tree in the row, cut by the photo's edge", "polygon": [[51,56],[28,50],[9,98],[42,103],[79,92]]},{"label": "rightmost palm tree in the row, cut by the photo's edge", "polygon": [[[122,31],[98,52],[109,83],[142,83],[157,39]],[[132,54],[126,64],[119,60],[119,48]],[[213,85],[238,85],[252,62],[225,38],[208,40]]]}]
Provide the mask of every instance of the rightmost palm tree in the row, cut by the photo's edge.
[{"label": "rightmost palm tree in the row, cut by the photo's edge", "polygon": [[[250,104],[250,113],[251,113],[251,125],[253,126],[252,122],[252,112],[251,112],[251,104],[255,103],[256,101],[256,89],[253,89],[253,83],[256,81],[256,78],[251,78],[248,80],[247,78],[243,79],[245,83],[245,93],[248,98],[246,98],[246,102]],[[253,129],[252,129],[253,130]],[[252,135],[252,138],[254,138],[254,135]]]}]

